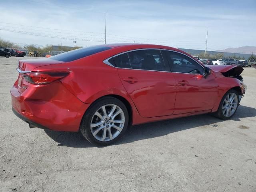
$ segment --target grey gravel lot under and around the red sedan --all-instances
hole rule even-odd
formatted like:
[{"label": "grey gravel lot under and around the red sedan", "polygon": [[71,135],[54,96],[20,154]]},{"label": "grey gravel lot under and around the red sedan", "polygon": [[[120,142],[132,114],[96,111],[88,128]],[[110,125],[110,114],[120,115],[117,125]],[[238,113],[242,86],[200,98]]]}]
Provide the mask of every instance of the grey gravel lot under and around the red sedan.
[{"label": "grey gravel lot under and around the red sedan", "polygon": [[115,145],[29,129],[11,110],[17,60],[0,57],[0,191],[256,191],[256,69],[235,116],[133,126]]}]

